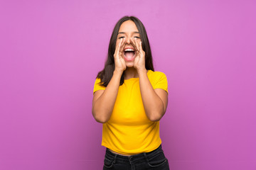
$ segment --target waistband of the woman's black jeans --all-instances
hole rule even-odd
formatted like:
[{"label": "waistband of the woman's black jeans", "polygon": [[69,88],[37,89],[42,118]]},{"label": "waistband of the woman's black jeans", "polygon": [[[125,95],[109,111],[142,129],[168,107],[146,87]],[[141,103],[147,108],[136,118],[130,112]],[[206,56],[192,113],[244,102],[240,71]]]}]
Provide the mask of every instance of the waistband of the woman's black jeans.
[{"label": "waistband of the woman's black jeans", "polygon": [[105,157],[117,163],[122,162],[122,163],[131,164],[132,162],[139,162],[145,159],[146,161],[148,161],[151,157],[154,157],[154,155],[159,154],[161,152],[163,152],[163,150],[161,149],[161,145],[151,152],[143,152],[141,154],[134,154],[132,156],[123,156],[120,154],[114,154],[113,152],[110,151],[110,149],[107,148]]}]

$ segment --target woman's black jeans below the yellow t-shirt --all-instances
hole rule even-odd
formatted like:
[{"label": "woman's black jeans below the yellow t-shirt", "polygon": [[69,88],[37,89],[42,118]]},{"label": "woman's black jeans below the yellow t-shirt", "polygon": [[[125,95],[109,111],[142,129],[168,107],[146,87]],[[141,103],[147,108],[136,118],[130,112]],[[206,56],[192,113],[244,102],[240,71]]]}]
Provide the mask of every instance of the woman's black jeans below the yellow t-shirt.
[{"label": "woman's black jeans below the yellow t-shirt", "polygon": [[161,145],[151,152],[122,156],[106,149],[103,170],[169,170]]}]

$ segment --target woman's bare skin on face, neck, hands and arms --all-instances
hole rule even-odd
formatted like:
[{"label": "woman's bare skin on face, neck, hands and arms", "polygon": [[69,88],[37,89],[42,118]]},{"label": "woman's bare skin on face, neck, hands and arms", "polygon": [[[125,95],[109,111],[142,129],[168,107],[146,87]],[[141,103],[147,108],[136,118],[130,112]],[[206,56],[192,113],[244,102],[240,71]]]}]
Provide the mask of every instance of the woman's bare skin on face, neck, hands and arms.
[{"label": "woman's bare skin on face, neck, hands and arms", "polygon": [[[136,50],[134,60],[129,62],[124,60],[125,47],[133,47]],[[110,119],[117,98],[119,82],[124,72],[124,79],[139,77],[146,116],[151,121],[159,121],[166,112],[168,94],[163,89],[153,89],[150,84],[145,68],[145,52],[142,50],[139,30],[133,21],[124,21],[119,28],[114,64],[114,73],[106,89],[95,91],[93,95],[92,115],[95,120],[99,123],[107,123]]]}]

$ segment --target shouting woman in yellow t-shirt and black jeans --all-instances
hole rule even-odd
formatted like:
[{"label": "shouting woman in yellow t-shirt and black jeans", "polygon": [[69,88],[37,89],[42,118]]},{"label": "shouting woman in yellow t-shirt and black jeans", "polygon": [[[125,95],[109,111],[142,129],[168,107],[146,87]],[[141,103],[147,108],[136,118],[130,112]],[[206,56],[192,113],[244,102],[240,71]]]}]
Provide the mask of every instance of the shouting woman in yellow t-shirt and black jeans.
[{"label": "shouting woman in yellow t-shirt and black jeans", "polygon": [[107,61],[97,74],[92,115],[103,123],[103,169],[169,169],[159,120],[168,103],[166,75],[154,72],[144,25],[124,16],[114,27]]}]

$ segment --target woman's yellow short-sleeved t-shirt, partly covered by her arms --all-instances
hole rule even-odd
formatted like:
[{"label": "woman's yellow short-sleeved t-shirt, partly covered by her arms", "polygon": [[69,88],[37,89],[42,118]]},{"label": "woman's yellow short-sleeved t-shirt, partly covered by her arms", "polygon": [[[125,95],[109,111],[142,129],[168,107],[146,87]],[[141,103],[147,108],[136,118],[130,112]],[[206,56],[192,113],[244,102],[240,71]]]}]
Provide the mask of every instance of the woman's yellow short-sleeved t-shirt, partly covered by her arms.
[{"label": "woman's yellow short-sleeved t-shirt, partly covered by her arms", "polygon": [[[162,72],[147,72],[153,89],[164,89],[168,93],[166,75]],[[104,90],[96,79],[93,92]],[[139,78],[125,79],[119,86],[117,99],[110,120],[103,123],[102,146],[120,154],[151,152],[161,145],[159,121],[152,122],[146,117]]]}]

